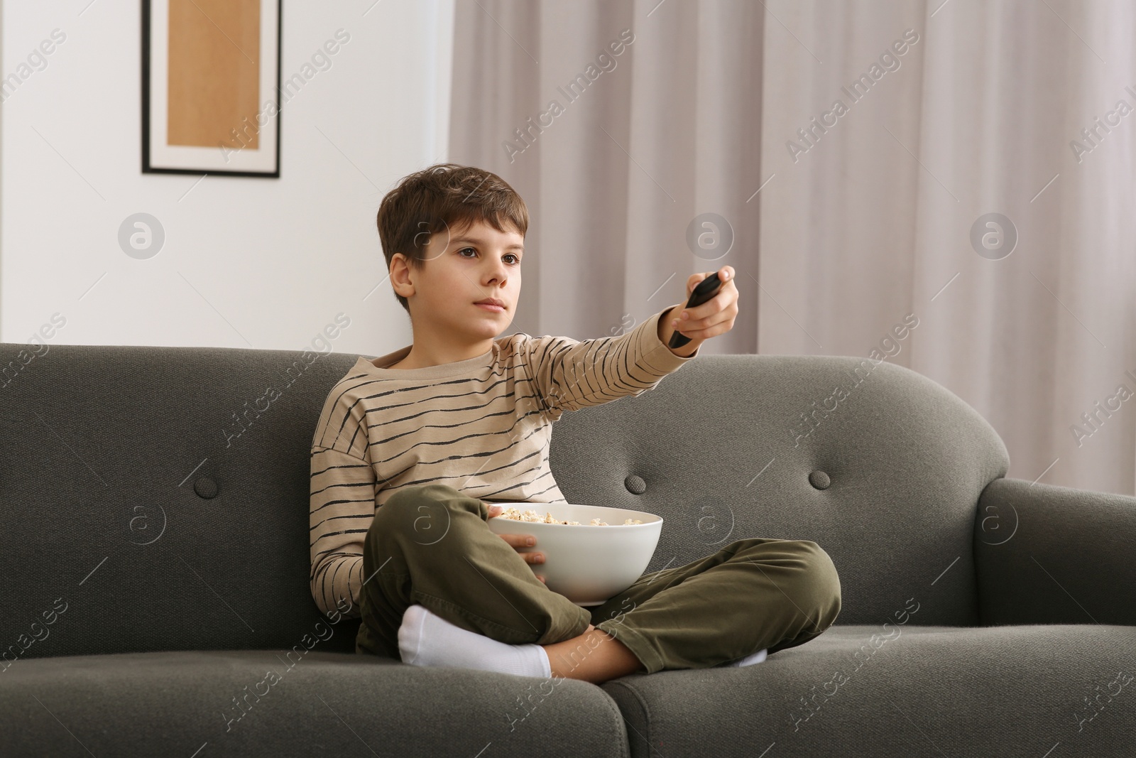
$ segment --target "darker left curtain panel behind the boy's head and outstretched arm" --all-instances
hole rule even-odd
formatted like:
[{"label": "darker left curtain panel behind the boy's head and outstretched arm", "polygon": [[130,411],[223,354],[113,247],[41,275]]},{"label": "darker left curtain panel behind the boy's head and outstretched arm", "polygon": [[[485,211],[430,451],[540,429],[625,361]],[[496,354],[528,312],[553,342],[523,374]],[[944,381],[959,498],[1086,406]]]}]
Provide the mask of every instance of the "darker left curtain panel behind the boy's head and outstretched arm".
[{"label": "darker left curtain panel behind the boy's head and outstretched arm", "polygon": [[[757,276],[760,11],[458,0],[450,158],[500,174],[531,214],[511,331],[618,334],[683,301],[692,273]],[[700,256],[686,243],[707,213],[733,230],[725,256],[720,230],[700,227]],[[708,352],[757,351],[757,283],[738,285],[749,315]]]}]

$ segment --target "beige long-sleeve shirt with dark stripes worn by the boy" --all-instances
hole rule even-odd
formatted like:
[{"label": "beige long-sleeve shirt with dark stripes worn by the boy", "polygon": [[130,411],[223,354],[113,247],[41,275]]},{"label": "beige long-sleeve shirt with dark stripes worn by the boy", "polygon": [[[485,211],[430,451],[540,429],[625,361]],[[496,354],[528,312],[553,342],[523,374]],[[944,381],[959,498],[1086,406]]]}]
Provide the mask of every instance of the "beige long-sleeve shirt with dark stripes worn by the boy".
[{"label": "beige long-sleeve shirt with dark stripes worn by the boy", "polygon": [[549,468],[553,422],[637,395],[698,357],[659,340],[661,315],[583,342],[517,333],[476,358],[425,368],[386,368],[411,345],[360,357],[332,388],[311,441],[319,609],[359,616],[364,538],[376,509],[403,488],[442,483],[483,500],[566,502]]}]

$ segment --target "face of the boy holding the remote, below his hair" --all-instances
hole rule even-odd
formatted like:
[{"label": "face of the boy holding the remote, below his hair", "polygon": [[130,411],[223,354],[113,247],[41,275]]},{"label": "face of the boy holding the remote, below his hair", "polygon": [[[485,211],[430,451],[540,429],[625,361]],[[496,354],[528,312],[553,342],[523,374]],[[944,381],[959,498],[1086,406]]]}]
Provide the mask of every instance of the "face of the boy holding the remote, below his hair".
[{"label": "face of the boy holding the remote, below his hair", "polygon": [[[494,339],[512,323],[525,238],[507,228],[499,232],[478,219],[431,238],[424,266],[409,272],[416,333],[466,342]],[[500,300],[503,310],[476,305],[488,298]]]}]

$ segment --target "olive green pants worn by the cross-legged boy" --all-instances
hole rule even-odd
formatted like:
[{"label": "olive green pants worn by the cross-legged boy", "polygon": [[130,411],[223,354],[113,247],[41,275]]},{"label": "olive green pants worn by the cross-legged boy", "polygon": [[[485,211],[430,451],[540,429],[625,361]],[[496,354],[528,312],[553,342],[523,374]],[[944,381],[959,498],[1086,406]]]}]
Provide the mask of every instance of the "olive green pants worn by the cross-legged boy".
[{"label": "olive green pants worn by the cross-legged boy", "polygon": [[536,578],[541,565],[527,564],[487,518],[486,501],[444,484],[400,490],[376,510],[364,547],[356,652],[400,659],[402,614],[417,603],[509,644],[562,642],[593,624],[651,674],[803,644],[841,609],[836,568],[816,542],[758,538],[644,574],[603,605],[583,608]]}]

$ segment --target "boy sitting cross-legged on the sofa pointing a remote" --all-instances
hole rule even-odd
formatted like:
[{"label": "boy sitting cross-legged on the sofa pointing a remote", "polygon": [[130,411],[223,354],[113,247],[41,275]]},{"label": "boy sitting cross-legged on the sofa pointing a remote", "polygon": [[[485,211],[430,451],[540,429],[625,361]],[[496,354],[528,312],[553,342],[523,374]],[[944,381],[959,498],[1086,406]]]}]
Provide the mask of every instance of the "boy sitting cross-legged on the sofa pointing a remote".
[{"label": "boy sitting cross-legged on the sofa pointing a remote", "polygon": [[[531,535],[485,523],[494,500],[566,502],[548,461],[553,422],[654,388],[729,331],[732,267],[708,302],[685,313],[684,298],[620,336],[501,338],[528,230],[512,188],[431,166],[387,193],[377,223],[414,344],[359,358],[311,448],[311,592],[325,614],[359,608],[356,652],[599,683],[760,663],[832,625],[840,580],[816,542],[737,540],[583,608],[544,586],[541,553],[517,552]],[[708,275],[687,280],[687,297]],[[676,327],[691,342],[671,350]]]}]

